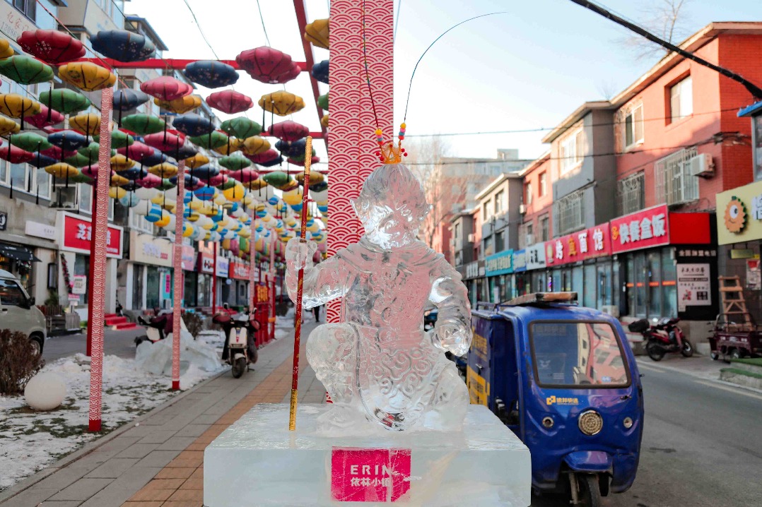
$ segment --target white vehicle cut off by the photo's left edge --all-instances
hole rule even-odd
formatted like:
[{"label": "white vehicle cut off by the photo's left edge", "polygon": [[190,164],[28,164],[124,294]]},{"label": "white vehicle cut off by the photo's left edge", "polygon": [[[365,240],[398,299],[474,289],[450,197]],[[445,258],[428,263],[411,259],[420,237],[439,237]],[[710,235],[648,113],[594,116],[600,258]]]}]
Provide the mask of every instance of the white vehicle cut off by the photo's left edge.
[{"label": "white vehicle cut off by the photo's left edge", "polygon": [[0,269],[0,329],[21,331],[29,336],[37,354],[43,353],[45,346],[45,316],[34,306],[34,298],[15,276]]}]

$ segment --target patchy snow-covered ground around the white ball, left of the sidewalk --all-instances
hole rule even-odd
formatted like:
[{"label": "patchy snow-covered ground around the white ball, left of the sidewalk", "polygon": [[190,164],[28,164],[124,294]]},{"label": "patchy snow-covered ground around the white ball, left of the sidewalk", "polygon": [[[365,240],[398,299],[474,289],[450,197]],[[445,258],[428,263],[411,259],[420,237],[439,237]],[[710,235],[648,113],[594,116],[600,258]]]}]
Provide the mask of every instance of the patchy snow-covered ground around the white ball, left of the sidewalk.
[{"label": "patchy snow-covered ground around the white ball, left of the sidewalk", "polygon": [[[226,368],[214,371],[188,365],[181,375],[186,390]],[[42,371],[66,381],[61,407],[35,412],[24,396],[0,396],[0,491],[85,445],[99,434],[88,433],[90,358],[83,354],[50,362]],[[104,432],[132,421],[177,394],[170,378],[141,371],[134,359],[104,357],[102,425]]]}]

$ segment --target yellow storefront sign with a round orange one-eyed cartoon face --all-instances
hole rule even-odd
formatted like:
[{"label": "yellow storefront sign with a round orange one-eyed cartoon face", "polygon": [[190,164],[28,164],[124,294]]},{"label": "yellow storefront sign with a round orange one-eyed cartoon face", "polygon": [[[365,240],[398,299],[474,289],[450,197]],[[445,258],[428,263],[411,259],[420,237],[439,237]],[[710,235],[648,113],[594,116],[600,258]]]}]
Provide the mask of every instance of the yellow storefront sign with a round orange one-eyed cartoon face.
[{"label": "yellow storefront sign with a round orange one-eyed cartoon face", "polygon": [[717,194],[717,243],[762,239],[762,181]]}]

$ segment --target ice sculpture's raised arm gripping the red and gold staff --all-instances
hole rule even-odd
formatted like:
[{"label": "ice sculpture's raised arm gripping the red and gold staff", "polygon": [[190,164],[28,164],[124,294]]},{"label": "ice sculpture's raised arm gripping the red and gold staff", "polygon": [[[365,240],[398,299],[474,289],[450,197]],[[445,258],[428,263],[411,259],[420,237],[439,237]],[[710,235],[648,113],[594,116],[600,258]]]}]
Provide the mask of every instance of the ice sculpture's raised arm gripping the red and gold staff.
[{"label": "ice sculpture's raised arm gripping the red and gold staff", "polygon": [[296,301],[299,267],[304,266],[302,301],[305,308],[325,305],[331,299],[341,298],[347,292],[349,273],[344,261],[338,257],[331,257],[325,262],[313,266],[312,255],[316,249],[315,241],[300,245],[299,238],[289,240],[286,245],[286,288],[288,295],[292,301]]}]

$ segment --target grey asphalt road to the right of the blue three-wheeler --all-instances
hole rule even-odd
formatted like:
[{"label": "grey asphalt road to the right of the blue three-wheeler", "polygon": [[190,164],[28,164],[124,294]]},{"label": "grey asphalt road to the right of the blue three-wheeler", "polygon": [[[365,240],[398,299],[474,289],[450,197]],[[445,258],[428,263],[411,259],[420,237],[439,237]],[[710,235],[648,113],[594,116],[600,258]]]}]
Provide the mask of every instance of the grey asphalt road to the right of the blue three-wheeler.
[{"label": "grey asphalt road to the right of the blue three-wheeler", "polygon": [[[645,432],[638,477],[606,507],[747,507],[762,498],[762,394],[708,380],[706,358],[640,360]],[[533,507],[561,507],[535,499]]]}]

